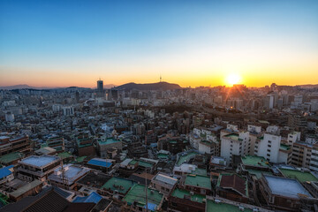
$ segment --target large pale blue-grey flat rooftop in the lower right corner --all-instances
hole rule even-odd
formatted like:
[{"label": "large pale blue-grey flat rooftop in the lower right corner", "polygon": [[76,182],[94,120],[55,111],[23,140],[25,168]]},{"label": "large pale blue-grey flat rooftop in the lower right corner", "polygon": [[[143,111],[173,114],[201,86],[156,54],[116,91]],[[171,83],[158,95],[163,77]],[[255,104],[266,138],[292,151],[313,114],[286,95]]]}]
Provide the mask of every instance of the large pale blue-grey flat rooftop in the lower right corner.
[{"label": "large pale blue-grey flat rooftop in the lower right corner", "polygon": [[299,199],[299,194],[312,197],[307,190],[301,186],[299,181],[291,178],[280,178],[265,175],[269,189],[273,194]]}]

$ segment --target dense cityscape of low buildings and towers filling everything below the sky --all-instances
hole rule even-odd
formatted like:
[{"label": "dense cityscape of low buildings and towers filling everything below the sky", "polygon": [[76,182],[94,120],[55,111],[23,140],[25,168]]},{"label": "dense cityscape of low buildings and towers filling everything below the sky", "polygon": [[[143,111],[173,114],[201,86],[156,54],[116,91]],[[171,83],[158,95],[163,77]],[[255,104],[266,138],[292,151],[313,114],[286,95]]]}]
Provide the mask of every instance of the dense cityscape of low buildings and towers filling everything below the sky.
[{"label": "dense cityscape of low buildings and towers filling everything below the sky", "polygon": [[317,209],[318,87],[100,79],[0,105],[0,211]]}]

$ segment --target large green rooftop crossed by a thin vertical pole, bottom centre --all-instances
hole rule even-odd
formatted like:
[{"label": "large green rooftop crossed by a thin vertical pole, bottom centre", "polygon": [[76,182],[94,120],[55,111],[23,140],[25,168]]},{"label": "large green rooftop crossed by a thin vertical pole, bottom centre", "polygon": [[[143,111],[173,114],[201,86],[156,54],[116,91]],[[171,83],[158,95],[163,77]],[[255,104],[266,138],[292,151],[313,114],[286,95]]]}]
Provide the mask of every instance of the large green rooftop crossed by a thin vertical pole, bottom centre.
[{"label": "large green rooftop crossed by a thin vertical pole, bottom centre", "polygon": [[[140,207],[146,205],[146,186],[143,185],[134,185],[131,190],[125,195],[123,201],[126,201],[128,204],[133,204],[137,202]],[[163,200],[163,194],[159,193],[156,190],[147,188],[148,192],[148,203],[153,203],[159,205]]]}]

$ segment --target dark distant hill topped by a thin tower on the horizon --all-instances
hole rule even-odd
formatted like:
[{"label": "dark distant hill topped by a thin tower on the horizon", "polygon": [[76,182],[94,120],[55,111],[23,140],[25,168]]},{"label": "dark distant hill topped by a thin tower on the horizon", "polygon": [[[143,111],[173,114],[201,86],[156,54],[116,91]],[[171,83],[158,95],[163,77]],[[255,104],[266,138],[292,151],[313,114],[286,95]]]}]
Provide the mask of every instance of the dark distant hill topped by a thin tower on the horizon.
[{"label": "dark distant hill topped by a thin tower on the horizon", "polygon": [[137,84],[137,83],[127,83],[118,87],[114,87],[118,90],[173,90],[182,88],[178,84],[171,84],[168,82],[156,82],[156,83],[147,83],[147,84]]}]

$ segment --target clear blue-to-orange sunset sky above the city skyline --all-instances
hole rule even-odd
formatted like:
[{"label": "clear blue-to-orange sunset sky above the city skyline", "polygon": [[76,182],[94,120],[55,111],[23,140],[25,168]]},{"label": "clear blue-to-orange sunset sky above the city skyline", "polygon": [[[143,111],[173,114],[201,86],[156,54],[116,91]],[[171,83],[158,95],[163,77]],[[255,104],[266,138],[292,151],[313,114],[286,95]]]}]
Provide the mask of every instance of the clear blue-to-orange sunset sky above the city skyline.
[{"label": "clear blue-to-orange sunset sky above the city skyline", "polygon": [[0,1],[0,86],[318,84],[316,0]]}]

